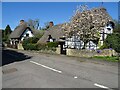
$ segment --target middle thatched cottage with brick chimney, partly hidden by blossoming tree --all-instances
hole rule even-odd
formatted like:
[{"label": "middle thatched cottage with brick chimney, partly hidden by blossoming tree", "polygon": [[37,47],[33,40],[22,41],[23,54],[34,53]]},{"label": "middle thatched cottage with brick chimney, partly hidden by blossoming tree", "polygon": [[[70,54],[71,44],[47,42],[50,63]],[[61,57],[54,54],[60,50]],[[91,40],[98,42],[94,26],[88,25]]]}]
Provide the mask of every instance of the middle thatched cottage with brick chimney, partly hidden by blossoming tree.
[{"label": "middle thatched cottage with brick chimney, partly hidden by blossoming tree", "polygon": [[39,43],[59,42],[61,54],[65,54],[65,32],[62,29],[63,24],[53,25],[49,24],[49,28],[45,31],[44,35],[38,41]]}]

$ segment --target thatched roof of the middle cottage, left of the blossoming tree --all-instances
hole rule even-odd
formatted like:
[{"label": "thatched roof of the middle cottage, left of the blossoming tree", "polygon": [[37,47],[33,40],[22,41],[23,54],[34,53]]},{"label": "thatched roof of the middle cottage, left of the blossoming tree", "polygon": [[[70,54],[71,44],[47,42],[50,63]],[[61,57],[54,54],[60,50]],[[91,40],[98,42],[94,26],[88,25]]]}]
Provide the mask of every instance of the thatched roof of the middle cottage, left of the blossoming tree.
[{"label": "thatched roof of the middle cottage, left of the blossoming tree", "polygon": [[64,33],[65,33],[61,28],[62,25],[63,24],[55,25],[47,29],[44,35],[38,41],[38,43],[46,43],[49,35],[51,35],[52,38],[55,39],[55,41],[58,41],[60,37],[64,36]]}]

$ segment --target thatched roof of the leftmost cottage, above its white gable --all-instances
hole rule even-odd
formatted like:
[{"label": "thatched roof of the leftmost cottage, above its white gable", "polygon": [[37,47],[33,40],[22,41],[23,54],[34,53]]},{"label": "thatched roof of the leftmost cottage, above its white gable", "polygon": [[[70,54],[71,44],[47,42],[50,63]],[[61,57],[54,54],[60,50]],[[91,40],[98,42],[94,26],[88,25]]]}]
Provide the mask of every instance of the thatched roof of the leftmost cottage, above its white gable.
[{"label": "thatched roof of the leftmost cottage, above its white gable", "polygon": [[33,35],[38,33],[37,30],[32,30],[31,28],[27,27],[26,23],[24,23],[24,24],[19,25],[15,28],[15,30],[10,34],[10,38],[20,38],[26,29],[31,30]]}]

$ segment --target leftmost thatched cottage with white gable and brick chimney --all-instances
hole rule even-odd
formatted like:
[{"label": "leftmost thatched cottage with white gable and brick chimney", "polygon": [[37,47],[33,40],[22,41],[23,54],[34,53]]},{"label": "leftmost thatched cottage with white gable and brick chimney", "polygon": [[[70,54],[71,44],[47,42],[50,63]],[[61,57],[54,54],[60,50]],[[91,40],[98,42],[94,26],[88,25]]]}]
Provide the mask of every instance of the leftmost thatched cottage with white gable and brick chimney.
[{"label": "leftmost thatched cottage with white gable and brick chimney", "polygon": [[10,34],[10,44],[17,45],[21,43],[24,39],[33,37],[37,33],[37,30],[32,30],[24,20],[20,21],[20,25],[15,28],[15,30]]}]

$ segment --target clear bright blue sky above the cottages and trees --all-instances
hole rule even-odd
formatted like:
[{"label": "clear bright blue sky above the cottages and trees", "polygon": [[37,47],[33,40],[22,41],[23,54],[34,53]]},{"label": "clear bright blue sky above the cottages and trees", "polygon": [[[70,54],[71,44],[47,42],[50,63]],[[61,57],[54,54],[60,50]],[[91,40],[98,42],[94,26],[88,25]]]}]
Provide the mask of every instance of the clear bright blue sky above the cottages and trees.
[{"label": "clear bright blue sky above the cottages and trees", "polygon": [[[45,22],[53,21],[54,24],[69,21],[73,11],[84,2],[3,2],[2,3],[2,27],[7,24],[14,29],[21,19],[39,19],[40,26]],[[99,7],[100,2],[86,3],[89,8]],[[118,19],[118,3],[104,2],[103,6],[113,19]]]}]

